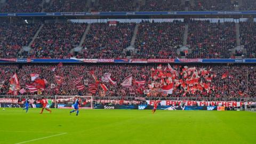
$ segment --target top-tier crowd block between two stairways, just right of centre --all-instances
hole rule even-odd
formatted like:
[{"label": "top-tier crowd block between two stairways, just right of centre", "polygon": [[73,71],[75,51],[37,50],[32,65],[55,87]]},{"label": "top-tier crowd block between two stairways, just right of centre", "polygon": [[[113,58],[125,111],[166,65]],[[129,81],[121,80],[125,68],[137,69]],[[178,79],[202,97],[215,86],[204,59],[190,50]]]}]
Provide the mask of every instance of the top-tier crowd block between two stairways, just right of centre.
[{"label": "top-tier crowd block between two stairways, just right of centre", "polygon": [[180,0],[148,0],[140,6],[140,11],[184,11]]}]

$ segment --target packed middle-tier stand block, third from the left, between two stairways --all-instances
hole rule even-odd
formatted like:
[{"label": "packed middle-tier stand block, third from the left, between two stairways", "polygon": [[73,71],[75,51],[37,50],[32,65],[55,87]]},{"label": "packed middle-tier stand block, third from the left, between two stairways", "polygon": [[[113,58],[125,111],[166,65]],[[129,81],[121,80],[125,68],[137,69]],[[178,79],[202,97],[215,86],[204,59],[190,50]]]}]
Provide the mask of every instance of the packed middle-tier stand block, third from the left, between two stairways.
[{"label": "packed middle-tier stand block, third from the left, between two stairways", "polygon": [[125,58],[123,50],[130,46],[134,27],[135,23],[92,23],[77,58]]}]

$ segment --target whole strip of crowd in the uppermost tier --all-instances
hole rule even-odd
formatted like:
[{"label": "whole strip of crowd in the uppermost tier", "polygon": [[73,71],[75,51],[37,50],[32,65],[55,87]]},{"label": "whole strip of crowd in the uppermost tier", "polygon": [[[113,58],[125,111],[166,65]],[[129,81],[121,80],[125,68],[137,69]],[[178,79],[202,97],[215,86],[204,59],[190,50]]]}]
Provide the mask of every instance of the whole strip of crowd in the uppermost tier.
[{"label": "whole strip of crowd in the uppermost tier", "polygon": [[0,12],[109,12],[109,11],[242,11],[255,10],[254,0],[6,0]]}]

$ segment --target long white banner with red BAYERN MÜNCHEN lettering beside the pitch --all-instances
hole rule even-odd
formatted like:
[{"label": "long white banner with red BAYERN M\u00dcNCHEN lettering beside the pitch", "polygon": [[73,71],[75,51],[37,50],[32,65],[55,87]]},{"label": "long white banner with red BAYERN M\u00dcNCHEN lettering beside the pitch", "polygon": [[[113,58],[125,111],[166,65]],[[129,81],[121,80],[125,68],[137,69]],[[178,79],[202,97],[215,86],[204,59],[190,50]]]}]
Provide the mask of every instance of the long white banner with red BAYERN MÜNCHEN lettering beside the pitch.
[{"label": "long white banner with red BAYERN M\u00dcNCHEN lettering beside the pitch", "polygon": [[[178,105],[181,106],[182,103],[185,103],[185,106],[195,106],[196,103],[198,106],[214,106],[215,103],[217,106],[225,106],[225,107],[240,107],[244,103],[245,105],[250,105],[253,102],[236,102],[236,101],[175,101],[175,100],[159,100],[158,102],[161,103],[161,106],[170,106],[170,105],[176,105],[178,102]],[[153,105],[154,100],[147,100],[147,103],[149,105]]]}]

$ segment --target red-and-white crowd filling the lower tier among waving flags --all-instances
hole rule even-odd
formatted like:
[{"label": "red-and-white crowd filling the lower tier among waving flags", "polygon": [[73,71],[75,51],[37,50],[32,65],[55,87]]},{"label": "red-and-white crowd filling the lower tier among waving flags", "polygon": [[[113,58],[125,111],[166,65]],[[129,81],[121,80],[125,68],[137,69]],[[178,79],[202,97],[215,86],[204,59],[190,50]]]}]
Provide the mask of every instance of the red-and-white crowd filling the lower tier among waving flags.
[{"label": "red-and-white crowd filling the lower tier among waving flags", "polygon": [[[21,88],[26,88],[25,84],[33,83],[31,81],[30,74],[37,73],[42,79],[46,79],[46,89],[43,95],[90,95],[89,88],[86,86],[84,90],[79,91],[76,88],[75,81],[81,78],[81,83],[85,85],[96,84],[98,90],[95,94],[100,95],[101,87],[99,84],[103,83],[108,87],[106,92],[107,96],[113,97],[135,97],[141,96],[154,96],[146,93],[149,90],[152,82],[160,82],[161,79],[155,79],[152,75],[154,70],[158,69],[157,65],[23,65],[19,67],[17,65],[1,65],[0,82],[5,81],[4,87],[0,90],[1,94],[7,94],[9,90],[8,79],[12,76],[14,71],[18,74],[20,79]],[[177,98],[195,98],[199,100],[207,100],[209,98],[252,98],[255,95],[255,78],[256,67],[248,65],[191,65],[187,69],[197,69],[196,71],[202,73],[199,74],[199,84],[204,87],[211,87],[209,90],[202,89],[201,91],[192,90],[193,86],[185,89],[182,87],[182,81],[185,82],[187,78],[193,77],[197,72],[185,73],[185,66],[172,66],[174,70],[177,70],[178,75],[172,77],[173,82],[179,81],[180,85],[175,83],[173,92],[167,97]],[[167,68],[166,65],[162,66],[164,71]],[[94,71],[95,77],[99,83],[95,81],[89,71]],[[202,72],[204,71],[204,72]],[[102,82],[102,76],[105,73],[111,74],[111,79],[116,81],[117,84],[113,85],[107,82]],[[203,74],[204,73],[204,74]],[[132,75],[133,84],[131,87],[123,87],[121,83],[126,76]],[[57,83],[55,76],[63,77],[61,83]],[[175,80],[177,79],[177,80]],[[86,81],[86,83],[85,83]],[[145,86],[138,86],[135,81],[145,81]],[[54,84],[54,87],[52,87]],[[190,85],[190,84],[189,84]],[[187,87],[187,86],[186,86]],[[247,91],[248,90],[248,91]],[[34,93],[24,93],[34,94]],[[35,93],[36,94],[36,93]]]}]

